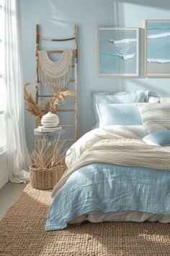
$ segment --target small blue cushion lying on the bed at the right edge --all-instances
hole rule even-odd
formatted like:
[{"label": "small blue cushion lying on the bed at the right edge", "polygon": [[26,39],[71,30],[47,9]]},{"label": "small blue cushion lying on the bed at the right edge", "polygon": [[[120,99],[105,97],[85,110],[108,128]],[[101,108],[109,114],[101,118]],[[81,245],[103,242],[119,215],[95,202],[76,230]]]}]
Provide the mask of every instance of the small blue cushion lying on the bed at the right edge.
[{"label": "small blue cushion lying on the bed at the right edge", "polygon": [[153,132],[143,137],[148,145],[168,146],[170,145],[170,131]]}]

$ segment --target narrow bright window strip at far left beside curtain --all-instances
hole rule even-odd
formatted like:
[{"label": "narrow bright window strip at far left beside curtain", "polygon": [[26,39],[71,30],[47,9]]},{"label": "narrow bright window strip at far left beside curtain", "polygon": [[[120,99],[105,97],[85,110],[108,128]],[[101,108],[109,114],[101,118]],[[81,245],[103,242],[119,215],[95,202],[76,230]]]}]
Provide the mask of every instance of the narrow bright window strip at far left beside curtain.
[{"label": "narrow bright window strip at far left beside curtain", "polygon": [[6,103],[6,91],[4,84],[4,9],[3,0],[0,0],[0,153],[6,145],[4,109]]}]

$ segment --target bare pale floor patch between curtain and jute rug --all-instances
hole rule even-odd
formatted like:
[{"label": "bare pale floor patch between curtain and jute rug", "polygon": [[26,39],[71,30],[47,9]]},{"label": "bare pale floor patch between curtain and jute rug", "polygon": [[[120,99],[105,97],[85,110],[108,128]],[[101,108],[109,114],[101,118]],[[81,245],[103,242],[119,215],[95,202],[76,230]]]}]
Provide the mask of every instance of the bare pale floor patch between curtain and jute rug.
[{"label": "bare pale floor patch between curtain and jute rug", "polygon": [[4,217],[6,211],[11,208],[26,186],[27,183],[17,184],[7,182],[0,189],[0,220]]}]

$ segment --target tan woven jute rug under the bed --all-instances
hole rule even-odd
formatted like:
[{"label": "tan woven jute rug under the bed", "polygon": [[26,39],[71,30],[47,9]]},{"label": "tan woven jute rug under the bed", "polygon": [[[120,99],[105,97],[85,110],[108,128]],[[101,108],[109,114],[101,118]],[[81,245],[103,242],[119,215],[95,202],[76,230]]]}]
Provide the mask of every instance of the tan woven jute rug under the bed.
[{"label": "tan woven jute rug under the bed", "polygon": [[170,255],[170,224],[86,222],[44,231],[50,201],[50,191],[27,185],[0,221],[0,255]]}]

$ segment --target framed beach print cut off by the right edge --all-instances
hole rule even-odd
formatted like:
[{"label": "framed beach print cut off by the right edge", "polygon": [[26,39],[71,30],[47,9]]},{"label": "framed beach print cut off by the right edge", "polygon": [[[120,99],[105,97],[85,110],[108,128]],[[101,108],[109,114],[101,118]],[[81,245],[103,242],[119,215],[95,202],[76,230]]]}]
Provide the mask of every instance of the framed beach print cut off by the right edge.
[{"label": "framed beach print cut off by the right edge", "polygon": [[170,20],[145,21],[146,77],[170,77]]}]

